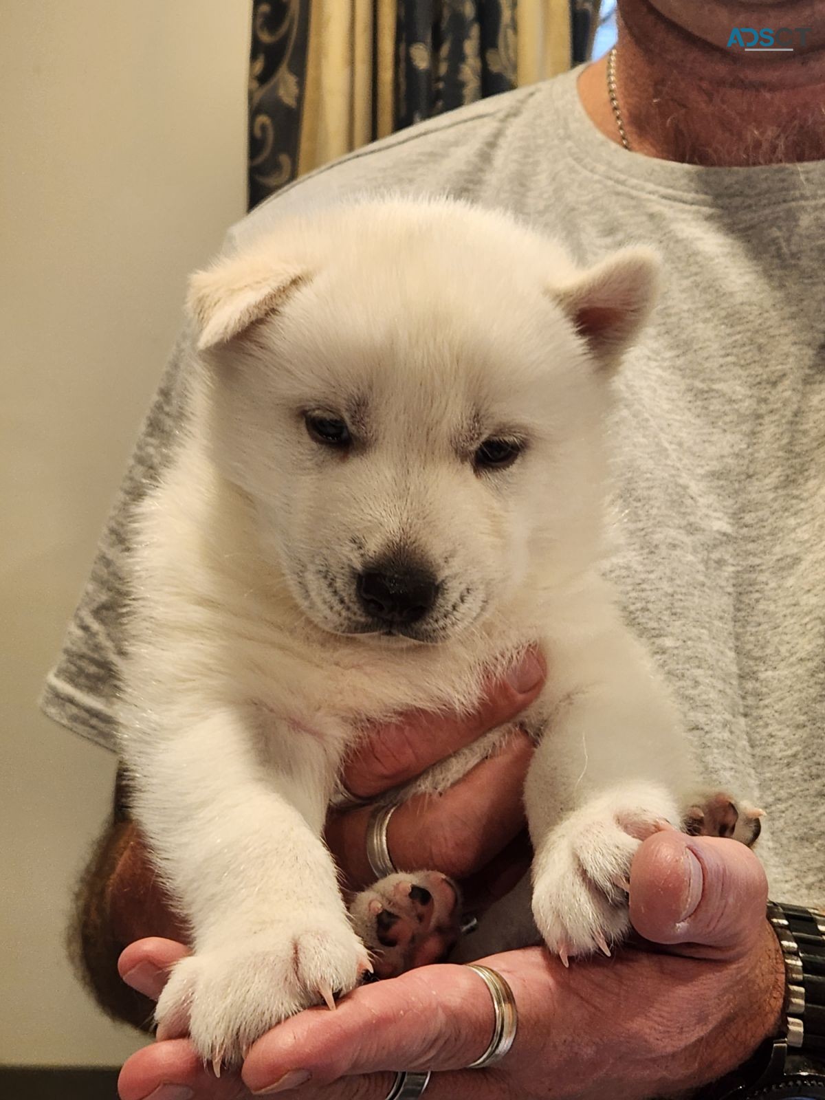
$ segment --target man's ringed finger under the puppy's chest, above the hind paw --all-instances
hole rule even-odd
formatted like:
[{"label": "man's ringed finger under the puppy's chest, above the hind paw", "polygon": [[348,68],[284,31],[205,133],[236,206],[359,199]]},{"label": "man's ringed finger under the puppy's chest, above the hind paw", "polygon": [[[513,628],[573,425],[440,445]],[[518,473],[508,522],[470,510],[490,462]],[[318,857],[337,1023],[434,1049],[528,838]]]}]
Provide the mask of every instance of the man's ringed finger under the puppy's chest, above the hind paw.
[{"label": "man's ringed finger under the puppy's chest, above the hind paw", "polygon": [[[495,756],[483,760],[442,795],[417,795],[393,814],[387,848],[399,870],[437,869],[463,879],[484,867],[525,825],[521,792],[532,743],[515,730]],[[366,860],[371,806],[327,822],[327,844],[353,890],[374,882]]]}]

